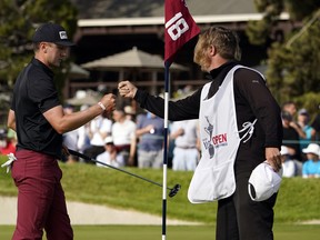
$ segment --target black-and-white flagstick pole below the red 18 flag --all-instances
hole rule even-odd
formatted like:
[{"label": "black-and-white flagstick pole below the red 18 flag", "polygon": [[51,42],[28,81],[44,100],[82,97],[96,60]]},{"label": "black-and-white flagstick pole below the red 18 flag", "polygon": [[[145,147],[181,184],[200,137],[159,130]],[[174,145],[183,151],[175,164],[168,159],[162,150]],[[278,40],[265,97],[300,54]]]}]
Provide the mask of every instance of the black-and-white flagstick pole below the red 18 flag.
[{"label": "black-and-white flagstick pole below the red 18 flag", "polygon": [[169,110],[169,67],[170,63],[164,62],[164,131],[163,131],[163,183],[162,183],[162,240],[167,234],[167,163],[168,163],[168,110]]}]

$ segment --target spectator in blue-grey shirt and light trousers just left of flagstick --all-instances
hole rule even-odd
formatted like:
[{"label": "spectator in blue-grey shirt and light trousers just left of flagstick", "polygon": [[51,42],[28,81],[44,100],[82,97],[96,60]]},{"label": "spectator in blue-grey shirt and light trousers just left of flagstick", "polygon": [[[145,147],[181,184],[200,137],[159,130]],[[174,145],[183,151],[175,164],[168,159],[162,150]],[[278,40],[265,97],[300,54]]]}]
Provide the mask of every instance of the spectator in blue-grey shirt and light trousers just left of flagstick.
[{"label": "spectator in blue-grey shirt and light trousers just left of flagstick", "polygon": [[163,119],[148,112],[139,117],[136,136],[138,143],[138,167],[161,168],[163,160]]}]

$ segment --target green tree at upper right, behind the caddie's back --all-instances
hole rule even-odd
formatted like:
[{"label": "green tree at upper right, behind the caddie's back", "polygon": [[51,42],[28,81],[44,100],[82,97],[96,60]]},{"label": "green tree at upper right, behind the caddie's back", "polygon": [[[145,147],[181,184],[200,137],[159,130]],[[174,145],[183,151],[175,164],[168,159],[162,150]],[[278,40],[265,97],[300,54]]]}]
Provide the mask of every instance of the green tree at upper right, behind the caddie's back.
[{"label": "green tree at upper right, behind the caddie's back", "polygon": [[320,1],[319,0],[254,0],[261,21],[250,22],[247,34],[253,44],[264,44],[279,16],[286,11],[291,21],[301,21],[282,41],[276,41],[268,51],[267,79],[280,101],[293,100],[316,111],[320,102]]}]

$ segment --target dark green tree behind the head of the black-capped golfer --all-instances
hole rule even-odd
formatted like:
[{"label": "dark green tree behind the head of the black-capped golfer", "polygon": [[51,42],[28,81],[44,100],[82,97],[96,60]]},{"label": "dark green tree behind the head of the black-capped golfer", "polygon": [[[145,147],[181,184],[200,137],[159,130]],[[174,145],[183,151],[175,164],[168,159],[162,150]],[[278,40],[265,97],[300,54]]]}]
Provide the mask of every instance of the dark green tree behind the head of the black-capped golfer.
[{"label": "dark green tree behind the head of the black-capped golfer", "polygon": [[[1,0],[1,86],[12,88],[18,73],[30,61],[33,54],[31,38],[39,24],[59,22],[67,29],[70,38],[77,29],[77,14],[76,7],[69,0]],[[59,76],[61,77],[57,79],[57,83],[61,88],[66,74]]]}]

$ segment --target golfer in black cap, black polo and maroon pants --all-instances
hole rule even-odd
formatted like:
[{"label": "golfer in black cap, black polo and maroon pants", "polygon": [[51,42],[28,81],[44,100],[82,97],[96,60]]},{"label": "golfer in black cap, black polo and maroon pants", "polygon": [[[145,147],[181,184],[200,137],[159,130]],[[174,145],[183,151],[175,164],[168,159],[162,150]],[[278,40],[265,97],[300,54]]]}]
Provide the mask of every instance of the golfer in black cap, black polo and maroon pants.
[{"label": "golfer in black cap, black polo and maroon pants", "polygon": [[73,233],[57,162],[62,153],[62,133],[103,111],[112,111],[114,96],[106,94],[87,110],[64,114],[52,70],[60,67],[73,43],[56,23],[40,26],[32,41],[34,58],[16,81],[8,116],[8,127],[18,136],[11,173],[18,187],[18,218],[12,239],[42,239],[44,229],[49,240],[69,240]]}]

